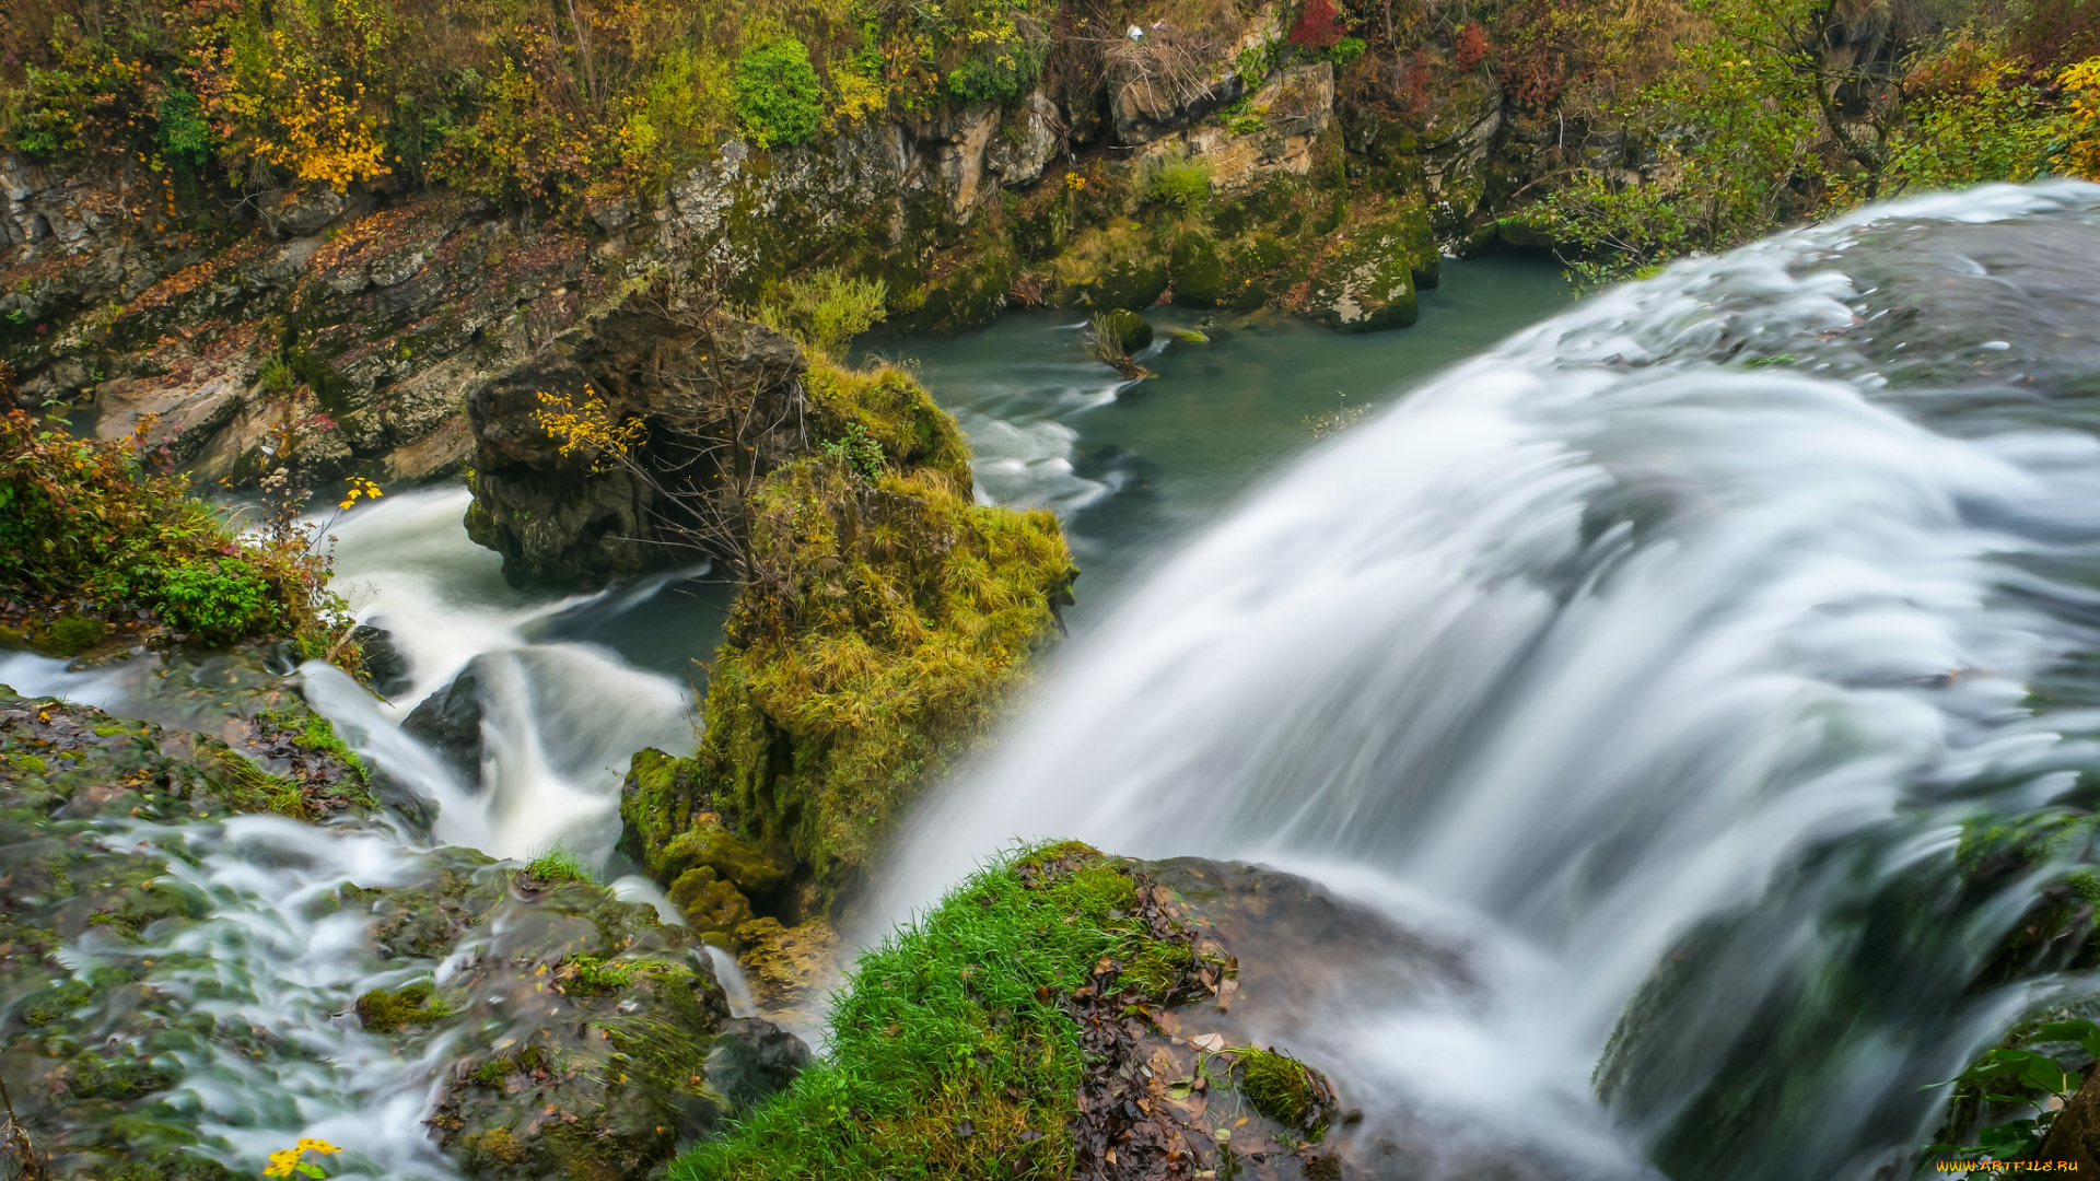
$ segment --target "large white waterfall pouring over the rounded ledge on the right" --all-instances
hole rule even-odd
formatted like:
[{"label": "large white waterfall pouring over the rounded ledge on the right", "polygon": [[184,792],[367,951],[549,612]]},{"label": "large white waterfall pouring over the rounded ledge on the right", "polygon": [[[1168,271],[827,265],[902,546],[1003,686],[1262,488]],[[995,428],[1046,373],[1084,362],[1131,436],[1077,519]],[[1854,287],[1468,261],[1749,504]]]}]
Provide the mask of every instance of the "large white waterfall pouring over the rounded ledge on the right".
[{"label": "large white waterfall pouring over the rounded ledge on the right", "polygon": [[1266,859],[1487,981],[1285,1032],[1367,1137],[1436,1128],[1451,1175],[1480,1137],[1905,1168],[1919,1086],[2048,988],[1970,988],[2031,885],[1959,899],[1961,822],[2100,765],[2066,675],[2100,643],[2096,210],[1867,210],[1434,378],[1075,641],[874,910],[1016,834]]}]

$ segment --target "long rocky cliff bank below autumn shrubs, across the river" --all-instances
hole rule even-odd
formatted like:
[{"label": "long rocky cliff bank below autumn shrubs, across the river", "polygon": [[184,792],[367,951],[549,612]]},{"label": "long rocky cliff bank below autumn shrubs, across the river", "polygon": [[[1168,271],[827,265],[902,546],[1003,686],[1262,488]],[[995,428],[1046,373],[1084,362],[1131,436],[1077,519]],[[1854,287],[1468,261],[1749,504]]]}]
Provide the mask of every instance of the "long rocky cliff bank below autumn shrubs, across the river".
[{"label": "long rocky cliff bank below autumn shrubs, across the river", "polygon": [[[1493,80],[1434,48],[1376,78],[1359,67],[1340,95],[1325,61],[1250,74],[1250,50],[1281,36],[1277,13],[1201,44],[1174,84],[1138,50],[1111,55],[1092,82],[1006,109],[867,120],[798,149],[727,141],[655,193],[554,219],[384,185],[206,210],[141,170],[6,158],[0,357],[19,403],[76,406],[103,435],[153,416],[204,479],[256,475],[273,431],[317,479],[426,479],[475,452],[468,391],[567,340],[636,273],[699,258],[729,275],[733,303],[813,265],[882,277],[905,330],[983,324],[1010,301],[1155,298],[1405,324],[1413,294],[1396,273],[1426,286],[1436,258],[1415,219],[1445,248],[1491,240],[1537,137],[1506,118]],[[1149,204],[1166,158],[1208,170],[1210,214]],[[1220,216],[1247,233],[1220,233]],[[1396,216],[1401,233],[1371,235],[1390,258],[1365,269],[1359,223]],[[1212,248],[1184,244],[1191,229]],[[1298,265],[1342,244],[1336,267]],[[540,561],[512,534],[504,553]]]}]

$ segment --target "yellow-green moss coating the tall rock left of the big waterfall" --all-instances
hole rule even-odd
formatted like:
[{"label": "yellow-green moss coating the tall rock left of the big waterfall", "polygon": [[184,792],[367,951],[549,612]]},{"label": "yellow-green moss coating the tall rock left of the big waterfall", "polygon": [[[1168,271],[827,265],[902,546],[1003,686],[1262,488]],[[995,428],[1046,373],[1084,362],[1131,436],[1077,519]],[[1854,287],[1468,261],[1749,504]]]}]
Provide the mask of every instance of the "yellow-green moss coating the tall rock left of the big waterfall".
[{"label": "yellow-green moss coating the tall rock left of the big waterfall", "polygon": [[981,506],[939,467],[788,464],[752,496],[752,553],[695,784],[836,891],[989,727],[1077,572],[1050,513]]}]

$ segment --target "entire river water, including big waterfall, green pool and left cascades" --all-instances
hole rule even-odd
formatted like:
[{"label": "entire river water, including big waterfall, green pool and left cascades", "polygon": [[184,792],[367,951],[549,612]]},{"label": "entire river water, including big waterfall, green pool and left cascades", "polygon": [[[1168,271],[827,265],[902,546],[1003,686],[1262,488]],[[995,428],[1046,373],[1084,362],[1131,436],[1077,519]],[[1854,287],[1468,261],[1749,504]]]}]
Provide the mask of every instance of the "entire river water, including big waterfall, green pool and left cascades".
[{"label": "entire river water, including big waterfall, green pool and left cascades", "polygon": [[[1418,328],[1363,338],[1159,309],[1210,343],[1166,340],[1134,387],[1069,315],[880,343],[958,412],[981,494],[1067,517],[1086,605],[869,906],[905,914],[1014,836],[1266,859],[1483,981],[1279,1030],[1367,1107],[1359,1135],[1434,1145],[1411,1177],[1489,1143],[1567,1175],[1900,1168],[1936,1118],[1919,1086],[2062,986],[1972,988],[2033,880],[1961,899],[1953,857],[1966,820],[2077,799],[2100,763],[2096,204],[1930,198],[1575,307],[1550,267],[1451,263]],[[1306,431],[1359,406],[1382,410]],[[439,841],[605,864],[628,754],[693,740],[722,588],[517,593],[464,506],[403,492],[336,527],[414,687],[372,702],[309,666],[309,698],[443,803]],[[472,782],[399,731],[468,662]],[[0,662],[151,714],[147,677]],[[416,1122],[437,1063],[338,1017],[407,969],[332,960],[300,916],[412,843],[204,836],[223,1004],[307,1057],[187,1061],[183,1110],[248,1170],[323,1135],[363,1145],[359,1175],[443,1177]]]}]

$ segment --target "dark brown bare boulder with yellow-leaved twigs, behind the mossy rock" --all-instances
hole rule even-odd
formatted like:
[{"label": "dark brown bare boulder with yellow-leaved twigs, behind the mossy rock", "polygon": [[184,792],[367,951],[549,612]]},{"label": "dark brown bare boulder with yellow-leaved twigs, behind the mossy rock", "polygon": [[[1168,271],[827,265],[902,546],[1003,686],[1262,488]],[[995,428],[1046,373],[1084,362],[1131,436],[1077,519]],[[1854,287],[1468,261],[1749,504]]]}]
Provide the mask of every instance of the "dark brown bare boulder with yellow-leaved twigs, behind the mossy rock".
[{"label": "dark brown bare boulder with yellow-leaved twigs, behind the mossy rock", "polygon": [[720,557],[750,485],[808,450],[802,351],[704,303],[636,290],[466,397],[466,532],[512,584],[596,586]]}]

